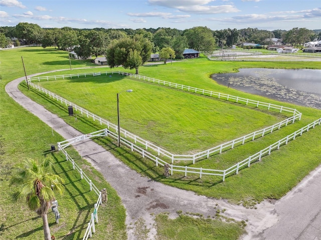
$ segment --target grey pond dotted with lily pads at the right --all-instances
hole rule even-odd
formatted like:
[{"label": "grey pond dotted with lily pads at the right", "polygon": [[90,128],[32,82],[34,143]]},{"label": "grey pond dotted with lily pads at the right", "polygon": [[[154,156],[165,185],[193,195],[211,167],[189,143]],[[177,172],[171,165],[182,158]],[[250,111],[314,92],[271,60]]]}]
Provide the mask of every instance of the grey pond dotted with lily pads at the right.
[{"label": "grey pond dotted with lily pads at the right", "polygon": [[321,109],[321,70],[241,68],[212,78],[241,91]]}]

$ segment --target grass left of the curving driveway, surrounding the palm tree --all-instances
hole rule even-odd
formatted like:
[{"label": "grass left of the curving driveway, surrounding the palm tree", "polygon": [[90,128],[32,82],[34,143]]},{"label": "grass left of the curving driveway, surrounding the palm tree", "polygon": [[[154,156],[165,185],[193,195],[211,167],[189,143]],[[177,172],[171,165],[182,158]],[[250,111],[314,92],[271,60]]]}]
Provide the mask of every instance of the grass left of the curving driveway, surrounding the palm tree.
[{"label": "grass left of the curving driveway, surrounding the palm tree", "polygon": [[[48,53],[48,54],[47,54]],[[12,205],[10,203],[9,185],[11,171],[14,165],[26,157],[43,158],[51,144],[63,138],[42,122],[39,118],[22,108],[5,92],[5,85],[17,77],[24,75],[21,56],[24,57],[27,74],[68,68],[68,54],[54,48],[40,47],[20,48],[1,51],[0,80],[0,239],[42,239],[42,218],[28,210],[24,202]],[[88,66],[85,61],[72,61],[73,67]],[[90,64],[91,65],[91,64]],[[125,209],[114,189],[104,180],[101,173],[80,159],[76,152],[72,153],[80,161],[80,166],[86,169],[86,174],[101,189],[107,188],[109,193],[107,203],[99,208],[100,223],[96,225],[95,239],[126,239]],[[56,224],[53,213],[50,213],[49,224],[51,233],[56,239],[79,239],[85,233],[85,228],[93,211],[97,195],[89,190],[89,185],[81,180],[79,173],[72,170],[70,162],[60,153],[54,153],[54,171],[66,181],[66,191],[58,196],[61,218]]]}]

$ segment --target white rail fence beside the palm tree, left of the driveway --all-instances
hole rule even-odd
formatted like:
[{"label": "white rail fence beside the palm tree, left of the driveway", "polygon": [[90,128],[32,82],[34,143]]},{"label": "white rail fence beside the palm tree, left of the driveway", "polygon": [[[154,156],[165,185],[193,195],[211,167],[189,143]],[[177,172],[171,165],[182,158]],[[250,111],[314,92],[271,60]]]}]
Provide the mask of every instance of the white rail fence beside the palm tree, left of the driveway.
[{"label": "white rail fence beside the palm tree, left of the driveway", "polygon": [[98,223],[98,208],[99,208],[99,205],[102,203],[101,192],[95,186],[95,184],[91,181],[91,179],[77,165],[77,163],[74,161],[74,159],[71,158],[71,156],[67,153],[67,151],[64,149],[64,147],[61,146],[61,144],[59,144],[59,142],[58,142],[58,150],[61,150],[65,154],[66,160],[70,161],[72,163],[73,168],[79,171],[80,178],[86,180],[86,182],[89,184],[90,190],[94,190],[94,192],[98,195],[98,199],[97,199],[96,203],[94,204],[94,211],[91,213],[91,218],[88,222],[88,226],[86,228],[85,235],[83,237],[83,240],[88,239],[88,237],[92,237],[92,233],[96,232],[95,220],[96,220],[96,223]]}]

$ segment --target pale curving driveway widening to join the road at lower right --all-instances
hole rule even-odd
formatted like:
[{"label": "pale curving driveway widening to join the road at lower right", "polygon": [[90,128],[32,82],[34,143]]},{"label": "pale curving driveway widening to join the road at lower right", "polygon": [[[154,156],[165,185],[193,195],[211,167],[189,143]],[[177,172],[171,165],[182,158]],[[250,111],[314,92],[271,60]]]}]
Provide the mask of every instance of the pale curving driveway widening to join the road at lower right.
[{"label": "pale curving driveway widening to join the road at lower right", "polygon": [[[39,73],[40,74],[40,73]],[[42,73],[41,73],[42,74]],[[34,74],[36,75],[36,74]],[[32,75],[30,75],[32,76]],[[19,104],[28,109],[69,139],[82,133],[65,123],[57,115],[26,97],[18,84],[24,77],[11,81],[6,91]],[[321,181],[320,169],[304,179],[293,191],[272,204],[263,201],[257,209],[247,209],[228,203],[224,199],[213,199],[194,192],[174,188],[152,181],[131,170],[110,152],[91,140],[74,145],[76,150],[91,162],[116,189],[126,208],[126,223],[138,218],[146,221],[150,229],[149,238],[154,239],[156,230],[151,213],[167,211],[175,217],[178,210],[198,212],[205,216],[215,215],[214,206],[225,208],[224,214],[237,220],[247,220],[247,235],[243,239],[321,239]],[[134,224],[130,225],[131,227]],[[270,227],[270,228],[269,228]],[[128,239],[135,239],[134,228],[128,228]]]}]

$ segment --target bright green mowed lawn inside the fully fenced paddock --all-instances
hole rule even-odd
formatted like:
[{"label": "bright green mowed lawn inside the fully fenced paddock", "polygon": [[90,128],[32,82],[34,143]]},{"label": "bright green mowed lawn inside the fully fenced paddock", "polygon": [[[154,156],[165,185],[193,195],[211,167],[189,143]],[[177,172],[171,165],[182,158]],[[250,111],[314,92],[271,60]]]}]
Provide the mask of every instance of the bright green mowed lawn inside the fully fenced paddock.
[{"label": "bright green mowed lawn inside the fully fenced paddock", "polygon": [[132,89],[119,97],[121,127],[176,154],[205,150],[285,118],[118,74],[36,83],[114,124],[116,93]]}]

